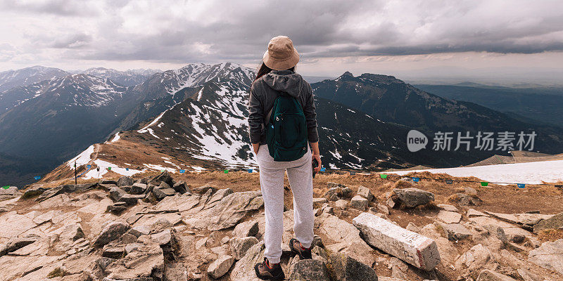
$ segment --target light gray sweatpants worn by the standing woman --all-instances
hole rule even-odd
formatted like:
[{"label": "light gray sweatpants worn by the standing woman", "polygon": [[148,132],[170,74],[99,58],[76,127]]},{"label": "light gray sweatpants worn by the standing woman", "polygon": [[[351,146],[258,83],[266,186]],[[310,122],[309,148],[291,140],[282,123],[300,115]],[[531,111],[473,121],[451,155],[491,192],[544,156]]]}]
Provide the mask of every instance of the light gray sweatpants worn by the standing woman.
[{"label": "light gray sweatpants worn by the standing woman", "polygon": [[267,145],[260,145],[256,158],[266,216],[264,256],[270,263],[279,263],[284,231],[284,171],[287,171],[293,192],[293,232],[303,247],[308,248],[312,243],[315,216],[312,211],[311,149],[295,161],[274,162]]}]

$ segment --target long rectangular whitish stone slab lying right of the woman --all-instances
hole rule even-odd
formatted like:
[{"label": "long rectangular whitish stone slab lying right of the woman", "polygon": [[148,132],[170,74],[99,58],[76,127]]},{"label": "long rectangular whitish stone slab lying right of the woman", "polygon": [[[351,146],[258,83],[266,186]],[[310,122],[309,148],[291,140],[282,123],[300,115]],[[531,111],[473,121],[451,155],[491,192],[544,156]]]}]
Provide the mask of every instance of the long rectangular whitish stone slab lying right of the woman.
[{"label": "long rectangular whitish stone slab lying right of the woman", "polygon": [[436,242],[390,223],[379,216],[362,213],[353,219],[367,244],[421,268],[432,270],[440,263]]}]

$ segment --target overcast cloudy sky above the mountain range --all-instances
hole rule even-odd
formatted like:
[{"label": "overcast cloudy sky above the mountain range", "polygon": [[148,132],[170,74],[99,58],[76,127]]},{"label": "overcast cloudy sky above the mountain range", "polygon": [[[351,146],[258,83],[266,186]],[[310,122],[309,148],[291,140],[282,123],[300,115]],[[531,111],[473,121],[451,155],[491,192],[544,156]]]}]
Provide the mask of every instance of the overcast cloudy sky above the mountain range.
[{"label": "overcast cloudy sky above the mountain range", "polygon": [[560,0],[0,0],[0,26],[0,71],[255,67],[270,38],[284,34],[308,75],[563,74]]}]

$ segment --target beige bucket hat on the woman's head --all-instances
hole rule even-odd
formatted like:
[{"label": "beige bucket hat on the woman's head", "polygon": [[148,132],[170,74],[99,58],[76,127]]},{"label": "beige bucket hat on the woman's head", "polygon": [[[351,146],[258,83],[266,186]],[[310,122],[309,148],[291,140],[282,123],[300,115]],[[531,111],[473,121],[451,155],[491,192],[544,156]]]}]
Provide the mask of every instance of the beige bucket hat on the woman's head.
[{"label": "beige bucket hat on the woman's head", "polygon": [[268,49],[262,60],[272,70],[289,70],[299,62],[299,53],[289,37],[277,36],[268,43]]}]

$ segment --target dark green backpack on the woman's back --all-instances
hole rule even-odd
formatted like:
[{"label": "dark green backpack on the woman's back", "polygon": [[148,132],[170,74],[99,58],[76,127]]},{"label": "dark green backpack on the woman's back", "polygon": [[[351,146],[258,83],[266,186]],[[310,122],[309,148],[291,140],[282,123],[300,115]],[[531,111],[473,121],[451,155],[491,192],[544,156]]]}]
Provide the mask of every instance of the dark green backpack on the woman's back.
[{"label": "dark green backpack on the woman's back", "polygon": [[307,152],[307,124],[296,98],[281,93],[266,117],[266,143],[274,161],[297,160]]}]

